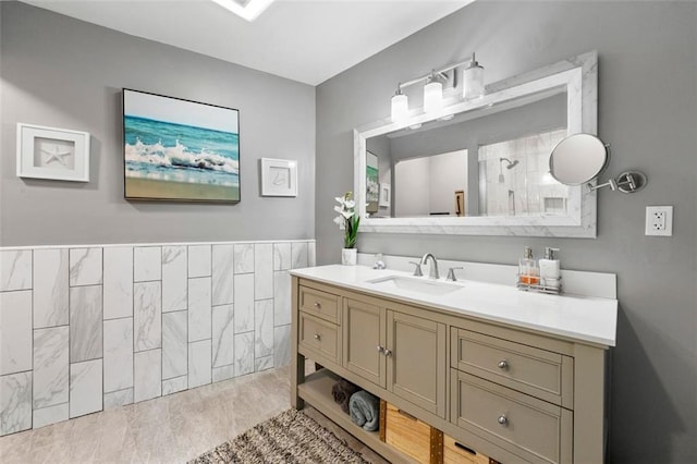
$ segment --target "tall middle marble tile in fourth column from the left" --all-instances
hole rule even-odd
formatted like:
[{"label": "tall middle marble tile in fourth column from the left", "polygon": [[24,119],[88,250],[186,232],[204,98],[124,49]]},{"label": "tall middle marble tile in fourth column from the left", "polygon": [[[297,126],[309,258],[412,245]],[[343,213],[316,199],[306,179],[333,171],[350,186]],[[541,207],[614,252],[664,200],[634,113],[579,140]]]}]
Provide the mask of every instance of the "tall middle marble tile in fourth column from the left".
[{"label": "tall middle marble tile in fourth column from the left", "polygon": [[133,387],[133,318],[105,320],[105,392]]}]

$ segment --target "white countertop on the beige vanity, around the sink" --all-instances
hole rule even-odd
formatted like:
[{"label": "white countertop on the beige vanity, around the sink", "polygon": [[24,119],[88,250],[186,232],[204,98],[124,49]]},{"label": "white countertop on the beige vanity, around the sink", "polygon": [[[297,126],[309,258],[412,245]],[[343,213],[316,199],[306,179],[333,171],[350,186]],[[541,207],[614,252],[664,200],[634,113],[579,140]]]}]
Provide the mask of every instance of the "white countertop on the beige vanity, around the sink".
[{"label": "white countertop on the beige vanity, around the sink", "polygon": [[[448,294],[425,294],[408,289],[390,289],[369,281],[411,273],[367,266],[319,266],[295,269],[291,274],[351,290],[386,296],[405,303],[428,305],[453,314],[473,316],[521,328],[562,335],[582,342],[615,345],[617,301],[575,295],[523,292],[512,285],[460,280]],[[428,281],[428,277],[413,278]]]}]

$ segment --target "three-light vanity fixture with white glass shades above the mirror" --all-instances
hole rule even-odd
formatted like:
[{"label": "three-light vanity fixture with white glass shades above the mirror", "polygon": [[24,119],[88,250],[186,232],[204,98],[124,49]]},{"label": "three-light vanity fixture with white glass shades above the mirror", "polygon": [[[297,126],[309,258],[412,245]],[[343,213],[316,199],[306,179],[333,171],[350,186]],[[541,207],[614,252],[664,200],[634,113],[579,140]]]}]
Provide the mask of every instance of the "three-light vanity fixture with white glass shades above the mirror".
[{"label": "three-light vanity fixture with white glass shades above the mirror", "polygon": [[[467,65],[467,68],[464,69],[462,73],[458,73],[457,70],[462,70],[465,65]],[[461,76],[463,84],[458,83]],[[408,119],[408,98],[402,90],[406,87],[411,87],[415,84],[420,84],[424,82],[426,83],[424,85],[424,112],[437,113],[441,111],[445,106],[443,81],[450,80],[452,80],[453,87],[462,87],[462,90],[458,90],[457,94],[457,97],[460,99],[462,99],[463,97],[466,99],[481,97],[485,94],[484,68],[481,68],[475,60],[475,53],[472,53],[472,58],[469,60],[450,64],[438,70],[435,69],[425,76],[398,84],[396,93],[392,96],[391,101],[392,111],[390,114],[392,122],[401,123],[405,122]],[[444,114],[439,119],[448,121],[452,118],[453,114]],[[415,126],[420,126],[420,124],[415,124]],[[409,127],[415,129],[413,126]]]}]

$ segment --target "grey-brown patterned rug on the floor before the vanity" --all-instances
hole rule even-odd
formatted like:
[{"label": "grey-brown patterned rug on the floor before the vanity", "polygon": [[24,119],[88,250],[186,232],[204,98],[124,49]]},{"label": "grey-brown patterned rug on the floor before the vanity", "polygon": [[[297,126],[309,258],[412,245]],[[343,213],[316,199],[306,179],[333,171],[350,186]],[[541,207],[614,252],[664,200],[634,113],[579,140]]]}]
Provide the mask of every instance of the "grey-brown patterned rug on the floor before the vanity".
[{"label": "grey-brown patterned rug on the floor before the vanity", "polygon": [[289,410],[189,461],[209,463],[369,464],[346,442],[306,416]]}]

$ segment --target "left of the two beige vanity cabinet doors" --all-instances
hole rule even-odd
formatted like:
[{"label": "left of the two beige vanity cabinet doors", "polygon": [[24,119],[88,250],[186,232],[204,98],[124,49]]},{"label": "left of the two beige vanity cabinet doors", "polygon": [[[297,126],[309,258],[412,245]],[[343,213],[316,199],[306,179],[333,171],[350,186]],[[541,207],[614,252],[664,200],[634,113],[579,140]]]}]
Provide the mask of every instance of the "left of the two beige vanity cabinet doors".
[{"label": "left of the two beige vanity cabinet doors", "polygon": [[343,366],[352,373],[384,388],[386,310],[379,306],[344,298]]}]

